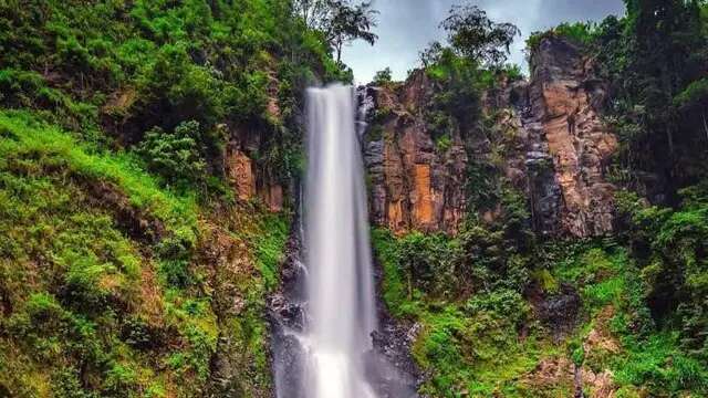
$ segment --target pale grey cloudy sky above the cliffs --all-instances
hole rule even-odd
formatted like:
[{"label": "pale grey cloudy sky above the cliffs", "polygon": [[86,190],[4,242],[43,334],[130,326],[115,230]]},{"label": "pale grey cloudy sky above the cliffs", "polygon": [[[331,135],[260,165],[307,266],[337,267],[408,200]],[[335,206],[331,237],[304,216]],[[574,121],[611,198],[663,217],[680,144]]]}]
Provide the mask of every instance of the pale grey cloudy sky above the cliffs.
[{"label": "pale grey cloudy sky above the cliffs", "polygon": [[[357,83],[372,80],[376,71],[391,66],[396,80],[418,64],[418,52],[434,40],[442,40],[438,29],[452,4],[465,0],[374,0],[381,11],[375,32],[379,40],[371,46],[357,42],[344,50],[344,62],[354,70]],[[499,22],[512,22],[521,29],[512,49],[511,61],[525,65],[525,38],[564,21],[602,20],[622,14],[622,0],[468,0]],[[525,70],[525,66],[524,66]]]}]

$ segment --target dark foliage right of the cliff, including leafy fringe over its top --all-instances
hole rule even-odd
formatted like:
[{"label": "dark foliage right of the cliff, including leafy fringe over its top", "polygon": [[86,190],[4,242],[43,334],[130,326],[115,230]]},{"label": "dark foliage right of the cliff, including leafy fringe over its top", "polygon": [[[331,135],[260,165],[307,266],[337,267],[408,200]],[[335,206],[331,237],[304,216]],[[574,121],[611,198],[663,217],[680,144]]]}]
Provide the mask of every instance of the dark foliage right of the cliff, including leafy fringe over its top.
[{"label": "dark foliage right of the cliff, including leafy fringe over its top", "polygon": [[652,200],[676,205],[680,188],[706,177],[708,6],[698,0],[626,6],[624,18],[564,23],[534,33],[528,45],[533,50],[548,35],[583,45],[598,76],[611,82],[607,122],[622,140],[615,177]]}]

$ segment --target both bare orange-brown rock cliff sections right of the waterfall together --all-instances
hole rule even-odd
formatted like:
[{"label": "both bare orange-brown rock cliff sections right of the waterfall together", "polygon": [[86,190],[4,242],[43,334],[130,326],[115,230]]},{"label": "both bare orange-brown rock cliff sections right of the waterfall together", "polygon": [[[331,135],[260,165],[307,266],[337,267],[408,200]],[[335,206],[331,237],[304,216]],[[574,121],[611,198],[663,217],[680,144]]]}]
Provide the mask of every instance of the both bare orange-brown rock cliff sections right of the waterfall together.
[{"label": "both bare orange-brown rock cliff sections right of the waterfall together", "polygon": [[584,238],[612,231],[614,187],[605,167],[617,140],[600,115],[605,83],[593,77],[592,61],[577,46],[542,40],[530,82],[487,93],[499,135],[489,137],[492,145],[459,133],[447,147],[436,145],[423,117],[434,90],[420,71],[396,88],[366,88],[375,105],[365,146],[374,223],[455,233],[467,211],[469,159],[490,161],[491,147],[501,143],[504,177],[525,193],[537,232]]}]

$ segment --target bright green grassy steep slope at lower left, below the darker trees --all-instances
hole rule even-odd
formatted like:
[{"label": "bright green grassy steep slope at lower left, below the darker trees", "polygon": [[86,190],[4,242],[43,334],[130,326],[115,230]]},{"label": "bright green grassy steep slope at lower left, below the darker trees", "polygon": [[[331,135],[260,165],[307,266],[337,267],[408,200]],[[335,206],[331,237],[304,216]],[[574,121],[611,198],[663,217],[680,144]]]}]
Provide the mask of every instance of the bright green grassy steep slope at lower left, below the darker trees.
[{"label": "bright green grassy steep slope at lower left, below the darker trees", "polygon": [[283,221],[199,209],[31,114],[0,129],[3,394],[270,395],[258,266]]}]

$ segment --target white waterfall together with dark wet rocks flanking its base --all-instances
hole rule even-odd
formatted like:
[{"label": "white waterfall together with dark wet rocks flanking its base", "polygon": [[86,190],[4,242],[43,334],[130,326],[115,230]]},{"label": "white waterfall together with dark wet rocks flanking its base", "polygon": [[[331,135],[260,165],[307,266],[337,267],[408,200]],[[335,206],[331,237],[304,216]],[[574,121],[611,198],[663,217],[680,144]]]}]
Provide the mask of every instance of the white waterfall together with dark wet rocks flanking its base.
[{"label": "white waterfall together with dark wet rocks flanking its base", "polygon": [[357,109],[343,85],[308,90],[306,100],[301,217],[269,300],[277,397],[417,397],[410,337],[377,308],[374,292],[360,145],[372,102],[363,97]]}]

